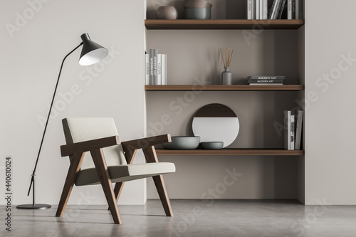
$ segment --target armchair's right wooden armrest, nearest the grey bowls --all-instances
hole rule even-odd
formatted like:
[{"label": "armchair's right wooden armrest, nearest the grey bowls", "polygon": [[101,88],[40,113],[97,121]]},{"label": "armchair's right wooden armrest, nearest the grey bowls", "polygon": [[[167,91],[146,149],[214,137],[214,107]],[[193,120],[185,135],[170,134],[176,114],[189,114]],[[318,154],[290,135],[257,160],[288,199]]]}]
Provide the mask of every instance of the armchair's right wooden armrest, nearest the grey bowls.
[{"label": "armchair's right wooden armrest, nearest the grey bowls", "polygon": [[155,137],[146,137],[141,139],[135,139],[131,141],[121,142],[124,151],[144,149],[146,147],[155,146],[166,142],[172,142],[171,135],[159,135]]}]

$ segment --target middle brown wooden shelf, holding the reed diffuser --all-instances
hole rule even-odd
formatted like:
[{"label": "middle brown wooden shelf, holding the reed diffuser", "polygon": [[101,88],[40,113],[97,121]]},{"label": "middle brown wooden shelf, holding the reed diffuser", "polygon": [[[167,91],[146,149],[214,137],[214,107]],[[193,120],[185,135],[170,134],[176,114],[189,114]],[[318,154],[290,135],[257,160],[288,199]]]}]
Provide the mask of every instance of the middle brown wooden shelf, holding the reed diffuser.
[{"label": "middle brown wooden shelf, holding the reed diffuser", "polygon": [[145,85],[147,91],[304,90],[304,85]]}]

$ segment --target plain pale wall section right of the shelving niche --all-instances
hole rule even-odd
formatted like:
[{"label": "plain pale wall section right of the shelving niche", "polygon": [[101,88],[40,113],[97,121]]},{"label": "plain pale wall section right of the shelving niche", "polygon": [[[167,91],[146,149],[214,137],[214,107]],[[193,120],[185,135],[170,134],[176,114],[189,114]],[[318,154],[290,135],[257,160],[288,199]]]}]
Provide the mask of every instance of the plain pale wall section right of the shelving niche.
[{"label": "plain pale wall section right of the shelving niche", "polygon": [[305,1],[306,204],[356,204],[355,9],[353,0]]}]

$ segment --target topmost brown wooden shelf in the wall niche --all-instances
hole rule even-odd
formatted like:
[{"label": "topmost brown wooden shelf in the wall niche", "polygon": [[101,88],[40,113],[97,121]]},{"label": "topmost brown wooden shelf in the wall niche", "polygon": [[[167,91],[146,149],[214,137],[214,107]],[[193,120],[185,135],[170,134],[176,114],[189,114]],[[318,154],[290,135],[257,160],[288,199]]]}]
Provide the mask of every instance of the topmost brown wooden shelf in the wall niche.
[{"label": "topmost brown wooden shelf in the wall niche", "polygon": [[145,20],[147,30],[298,29],[304,20]]}]

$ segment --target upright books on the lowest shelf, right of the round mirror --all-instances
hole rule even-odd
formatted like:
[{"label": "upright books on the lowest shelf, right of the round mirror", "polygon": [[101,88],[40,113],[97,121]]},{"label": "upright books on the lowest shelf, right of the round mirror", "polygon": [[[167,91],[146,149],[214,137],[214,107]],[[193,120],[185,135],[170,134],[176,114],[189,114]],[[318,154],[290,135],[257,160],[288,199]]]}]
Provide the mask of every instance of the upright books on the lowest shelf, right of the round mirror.
[{"label": "upright books on the lowest shelf, right of the round mirror", "polygon": [[303,110],[284,111],[284,149],[300,149],[303,130]]}]

